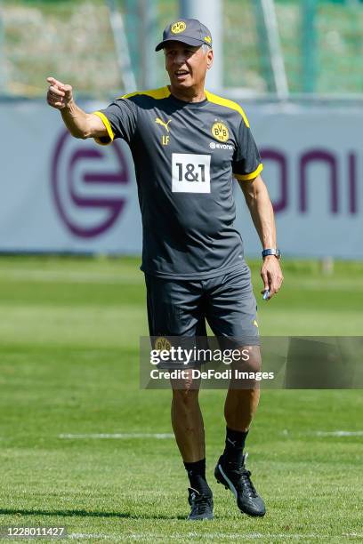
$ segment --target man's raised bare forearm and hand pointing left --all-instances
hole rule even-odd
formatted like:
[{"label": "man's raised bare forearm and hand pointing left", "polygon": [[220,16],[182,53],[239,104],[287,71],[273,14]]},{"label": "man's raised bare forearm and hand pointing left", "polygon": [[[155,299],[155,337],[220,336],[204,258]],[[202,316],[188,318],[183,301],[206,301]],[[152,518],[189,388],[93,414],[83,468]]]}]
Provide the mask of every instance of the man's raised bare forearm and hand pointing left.
[{"label": "man's raised bare forearm and hand pointing left", "polygon": [[72,87],[62,84],[54,77],[47,77],[49,83],[46,101],[52,108],[59,109],[64,124],[75,138],[105,138],[109,136],[101,118],[87,114],[73,100]]}]

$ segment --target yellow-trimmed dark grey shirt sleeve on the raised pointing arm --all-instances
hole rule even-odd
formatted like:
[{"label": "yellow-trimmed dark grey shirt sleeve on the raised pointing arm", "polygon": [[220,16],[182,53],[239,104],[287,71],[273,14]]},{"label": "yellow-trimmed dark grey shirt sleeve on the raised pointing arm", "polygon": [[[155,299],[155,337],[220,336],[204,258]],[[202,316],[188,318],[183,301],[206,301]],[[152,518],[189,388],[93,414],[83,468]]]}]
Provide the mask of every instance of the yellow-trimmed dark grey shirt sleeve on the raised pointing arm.
[{"label": "yellow-trimmed dark grey shirt sleeve on the raised pointing arm", "polygon": [[132,100],[117,99],[107,108],[94,111],[93,115],[100,117],[109,134],[104,138],[95,138],[97,143],[107,146],[115,138],[122,138],[127,143],[133,139],[137,123],[137,108]]}]

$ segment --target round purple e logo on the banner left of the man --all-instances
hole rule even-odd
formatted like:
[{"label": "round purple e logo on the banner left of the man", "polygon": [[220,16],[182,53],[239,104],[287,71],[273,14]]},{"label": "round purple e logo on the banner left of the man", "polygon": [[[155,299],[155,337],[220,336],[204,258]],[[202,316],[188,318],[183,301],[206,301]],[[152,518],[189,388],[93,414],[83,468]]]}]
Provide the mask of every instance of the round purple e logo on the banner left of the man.
[{"label": "round purple e logo on the banner left of the man", "polygon": [[93,148],[62,132],[52,156],[52,196],[60,219],[75,236],[107,231],[125,209],[122,189],[130,181],[125,154],[117,141]]}]

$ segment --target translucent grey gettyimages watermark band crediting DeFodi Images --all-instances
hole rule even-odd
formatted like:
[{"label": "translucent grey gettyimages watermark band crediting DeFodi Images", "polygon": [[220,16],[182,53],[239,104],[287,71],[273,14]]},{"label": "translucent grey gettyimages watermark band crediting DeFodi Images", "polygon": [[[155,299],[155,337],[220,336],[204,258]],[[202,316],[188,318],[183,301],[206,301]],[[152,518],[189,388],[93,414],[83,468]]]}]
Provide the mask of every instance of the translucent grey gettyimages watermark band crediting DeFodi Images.
[{"label": "translucent grey gettyimages watermark band crediting DeFodi Images", "polygon": [[363,337],[142,337],[141,388],[363,388]]}]

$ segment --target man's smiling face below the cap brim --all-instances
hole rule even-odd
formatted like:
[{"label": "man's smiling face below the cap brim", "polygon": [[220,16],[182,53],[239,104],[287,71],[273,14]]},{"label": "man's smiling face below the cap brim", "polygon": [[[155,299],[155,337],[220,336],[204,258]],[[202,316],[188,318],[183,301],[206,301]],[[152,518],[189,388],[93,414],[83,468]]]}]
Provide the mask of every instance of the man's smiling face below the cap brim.
[{"label": "man's smiling face below the cap brim", "polygon": [[165,44],[165,68],[175,88],[188,89],[204,84],[206,70],[212,66],[213,51],[201,46],[168,42]]}]

